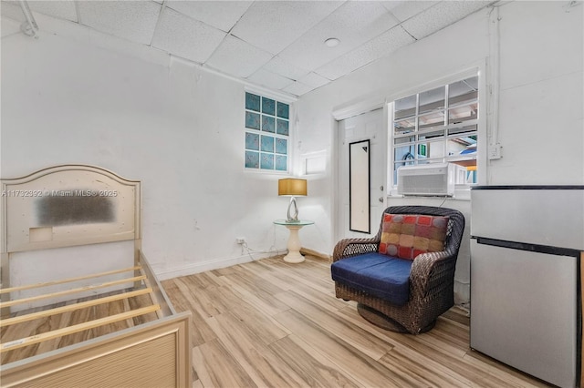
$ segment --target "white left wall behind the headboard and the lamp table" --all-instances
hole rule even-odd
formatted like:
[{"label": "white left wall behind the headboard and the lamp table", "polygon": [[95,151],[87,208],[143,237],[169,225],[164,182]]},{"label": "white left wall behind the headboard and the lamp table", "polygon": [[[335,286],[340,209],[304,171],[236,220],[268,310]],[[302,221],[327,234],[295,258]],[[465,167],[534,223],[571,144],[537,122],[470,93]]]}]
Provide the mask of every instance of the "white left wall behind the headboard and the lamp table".
[{"label": "white left wall behind the headboard and the lamp table", "polygon": [[80,163],[140,179],[162,279],[251,260],[236,237],[269,251],[254,258],[286,250],[282,176],[244,168],[244,84],[78,28],[3,36],[2,177]]}]

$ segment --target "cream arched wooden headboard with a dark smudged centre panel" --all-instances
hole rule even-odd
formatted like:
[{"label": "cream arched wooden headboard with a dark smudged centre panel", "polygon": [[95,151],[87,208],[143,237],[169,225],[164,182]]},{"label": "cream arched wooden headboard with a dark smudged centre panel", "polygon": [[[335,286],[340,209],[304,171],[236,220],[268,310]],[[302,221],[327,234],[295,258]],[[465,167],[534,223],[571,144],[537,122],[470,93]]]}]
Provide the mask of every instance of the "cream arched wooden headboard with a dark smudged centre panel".
[{"label": "cream arched wooden headboard with a dark smudged centre panel", "polygon": [[93,166],[2,179],[2,253],[141,240],[141,183]]}]

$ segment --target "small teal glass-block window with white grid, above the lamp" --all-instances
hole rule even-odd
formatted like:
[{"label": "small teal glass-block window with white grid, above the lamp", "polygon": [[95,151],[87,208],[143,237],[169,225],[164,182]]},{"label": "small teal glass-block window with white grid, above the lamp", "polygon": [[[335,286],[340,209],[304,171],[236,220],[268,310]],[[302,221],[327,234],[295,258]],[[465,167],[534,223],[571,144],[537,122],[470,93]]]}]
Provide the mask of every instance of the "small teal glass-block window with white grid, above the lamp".
[{"label": "small teal glass-block window with white grid, above the lamp", "polygon": [[245,168],[287,171],[290,106],[245,93]]}]

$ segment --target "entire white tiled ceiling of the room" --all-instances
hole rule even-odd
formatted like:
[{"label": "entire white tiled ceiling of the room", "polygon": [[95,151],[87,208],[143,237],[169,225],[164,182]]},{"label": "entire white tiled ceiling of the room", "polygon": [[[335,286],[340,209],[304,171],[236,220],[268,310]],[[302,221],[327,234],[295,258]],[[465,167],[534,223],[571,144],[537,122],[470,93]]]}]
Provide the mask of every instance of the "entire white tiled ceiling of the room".
[{"label": "entire white tiled ceiling of the room", "polygon": [[[2,15],[23,18],[21,2]],[[28,1],[43,14],[301,96],[493,1]],[[39,24],[39,30],[43,30]],[[4,36],[4,32],[3,32]],[[327,46],[337,38],[337,46]]]}]

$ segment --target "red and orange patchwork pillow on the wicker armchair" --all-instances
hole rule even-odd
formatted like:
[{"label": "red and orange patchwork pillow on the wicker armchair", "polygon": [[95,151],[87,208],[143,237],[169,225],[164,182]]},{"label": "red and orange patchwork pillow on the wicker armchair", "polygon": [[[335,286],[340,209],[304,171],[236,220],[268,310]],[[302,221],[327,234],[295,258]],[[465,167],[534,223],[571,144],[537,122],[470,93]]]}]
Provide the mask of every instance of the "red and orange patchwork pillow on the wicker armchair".
[{"label": "red and orange patchwork pillow on the wicker armchair", "polygon": [[426,252],[444,250],[448,217],[384,214],[380,253],[414,260]]}]

